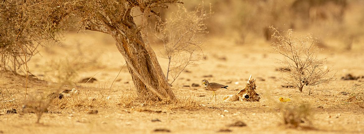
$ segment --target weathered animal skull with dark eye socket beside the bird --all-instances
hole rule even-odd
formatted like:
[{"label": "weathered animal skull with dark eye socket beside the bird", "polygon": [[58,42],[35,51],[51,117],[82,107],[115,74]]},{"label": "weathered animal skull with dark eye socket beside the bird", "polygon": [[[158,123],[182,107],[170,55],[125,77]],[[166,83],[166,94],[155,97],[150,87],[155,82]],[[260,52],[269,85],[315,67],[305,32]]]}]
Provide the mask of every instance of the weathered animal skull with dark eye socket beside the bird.
[{"label": "weathered animal skull with dark eye socket beside the bird", "polygon": [[236,94],[227,95],[223,98],[224,102],[233,102],[233,101],[260,101],[260,96],[257,94],[256,90],[256,79],[252,78],[250,75],[248,82],[246,82],[246,86],[237,92]]}]

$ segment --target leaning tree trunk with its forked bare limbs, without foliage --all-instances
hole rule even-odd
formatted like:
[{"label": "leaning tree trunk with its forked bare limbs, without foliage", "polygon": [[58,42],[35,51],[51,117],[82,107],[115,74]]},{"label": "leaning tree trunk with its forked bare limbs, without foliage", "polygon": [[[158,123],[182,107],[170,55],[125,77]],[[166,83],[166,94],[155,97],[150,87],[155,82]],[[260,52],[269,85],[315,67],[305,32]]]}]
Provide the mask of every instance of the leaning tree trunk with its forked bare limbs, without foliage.
[{"label": "leaning tree trunk with its forked bare limbs, without foliage", "polygon": [[[133,17],[130,15],[131,8],[124,12],[121,20],[112,20],[113,17],[106,17],[105,12],[96,13],[98,20],[89,20],[85,28],[112,35],[116,47],[126,60],[140,98],[173,101],[176,97],[149,44],[147,17],[150,9],[147,10],[143,10],[145,13],[141,28],[134,23]],[[94,21],[101,22],[101,25],[96,25]]]}]

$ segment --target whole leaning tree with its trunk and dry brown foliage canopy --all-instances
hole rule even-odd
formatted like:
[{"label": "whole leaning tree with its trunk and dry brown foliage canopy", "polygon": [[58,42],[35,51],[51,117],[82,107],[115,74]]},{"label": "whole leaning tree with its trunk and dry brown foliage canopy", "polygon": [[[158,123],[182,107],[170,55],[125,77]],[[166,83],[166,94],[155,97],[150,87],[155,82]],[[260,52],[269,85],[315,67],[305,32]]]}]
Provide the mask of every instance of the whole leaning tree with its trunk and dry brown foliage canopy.
[{"label": "whole leaning tree with its trunk and dry brown foliage canopy", "polygon": [[[12,37],[6,39],[6,42],[18,41],[19,37],[31,39],[24,41],[32,43],[56,40],[61,31],[78,23],[80,29],[107,33],[115,39],[140,97],[175,99],[150,47],[147,28],[149,16],[158,15],[154,9],[168,8],[167,4],[183,3],[182,1],[7,0],[0,3],[1,37],[4,33]],[[134,9],[143,13],[140,16],[141,25],[135,24],[136,16],[131,16]],[[25,52],[23,54],[26,56]]]}]

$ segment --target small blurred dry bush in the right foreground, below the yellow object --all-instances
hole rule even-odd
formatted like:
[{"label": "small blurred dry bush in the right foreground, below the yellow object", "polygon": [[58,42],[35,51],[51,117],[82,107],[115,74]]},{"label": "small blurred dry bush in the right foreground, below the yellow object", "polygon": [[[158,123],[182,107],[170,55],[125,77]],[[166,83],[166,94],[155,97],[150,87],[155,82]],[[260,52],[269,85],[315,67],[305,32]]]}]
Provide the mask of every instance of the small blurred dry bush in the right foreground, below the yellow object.
[{"label": "small blurred dry bush in the right foreground, below the yellow object", "polygon": [[287,127],[309,127],[312,113],[310,104],[303,102],[299,105],[288,105],[282,110],[283,124]]}]

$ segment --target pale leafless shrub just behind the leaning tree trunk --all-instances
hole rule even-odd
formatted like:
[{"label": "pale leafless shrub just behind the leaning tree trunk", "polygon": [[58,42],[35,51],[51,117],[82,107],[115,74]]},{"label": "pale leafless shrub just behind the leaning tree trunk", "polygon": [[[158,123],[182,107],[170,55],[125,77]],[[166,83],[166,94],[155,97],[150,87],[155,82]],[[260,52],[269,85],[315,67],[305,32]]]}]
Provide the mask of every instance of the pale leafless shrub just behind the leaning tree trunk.
[{"label": "pale leafless shrub just behind the leaning tree trunk", "polygon": [[172,78],[170,85],[178,78],[183,70],[191,64],[196,64],[202,59],[203,35],[207,33],[206,24],[203,22],[211,14],[203,5],[194,11],[187,11],[179,7],[178,11],[166,21],[157,18],[154,35],[163,42],[166,51],[164,58],[168,59],[167,76]]}]

